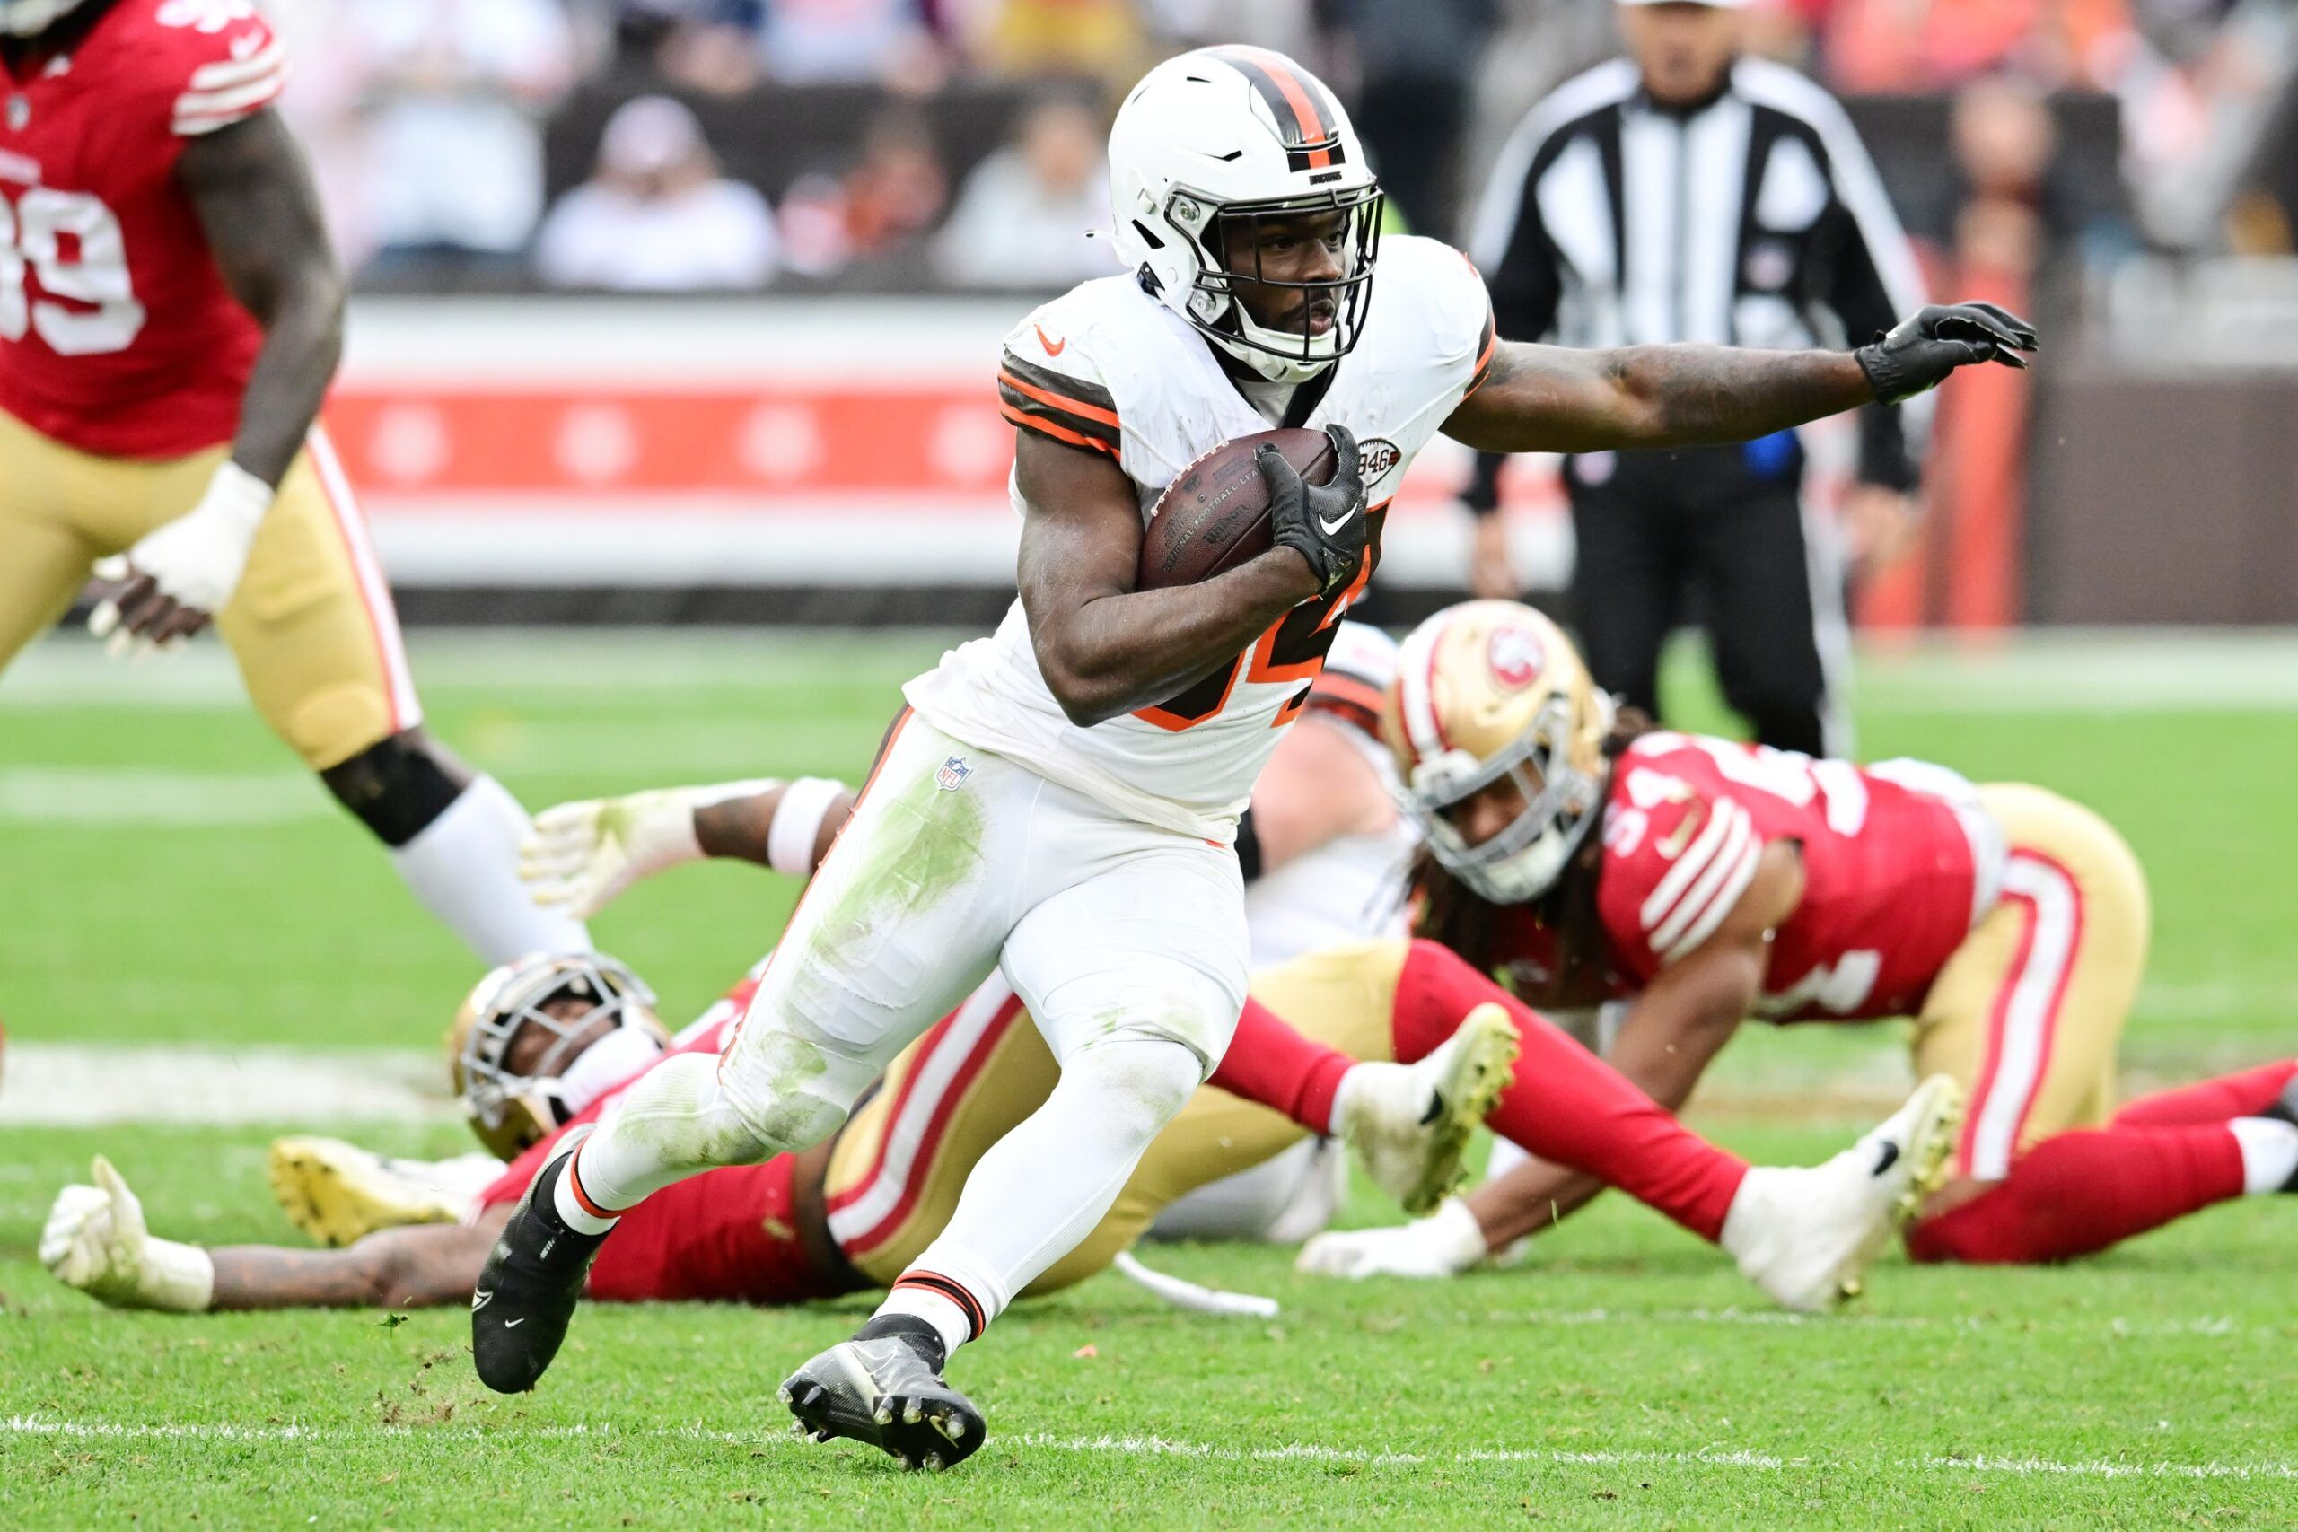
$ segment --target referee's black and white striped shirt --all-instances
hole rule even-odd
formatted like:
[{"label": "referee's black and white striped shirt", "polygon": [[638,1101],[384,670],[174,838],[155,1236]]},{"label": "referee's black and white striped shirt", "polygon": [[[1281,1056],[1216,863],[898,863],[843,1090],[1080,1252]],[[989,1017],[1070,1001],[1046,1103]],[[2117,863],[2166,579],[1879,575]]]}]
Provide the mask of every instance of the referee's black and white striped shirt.
[{"label": "referee's black and white striped shirt", "polygon": [[[1567,80],[1501,152],[1468,255],[1501,335],[1574,347],[1845,347],[1923,303],[1843,106],[1765,60],[1691,108],[1645,96],[1629,60]],[[1864,482],[1914,485],[1900,411],[1864,411],[1859,459]]]}]

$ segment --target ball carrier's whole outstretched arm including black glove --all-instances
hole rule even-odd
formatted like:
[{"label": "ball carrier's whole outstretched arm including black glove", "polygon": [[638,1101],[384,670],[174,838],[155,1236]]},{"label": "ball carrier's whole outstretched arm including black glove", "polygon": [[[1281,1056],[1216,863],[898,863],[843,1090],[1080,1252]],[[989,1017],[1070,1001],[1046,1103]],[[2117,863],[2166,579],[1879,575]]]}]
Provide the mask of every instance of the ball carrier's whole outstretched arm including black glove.
[{"label": "ball carrier's whole outstretched arm including black glove", "polygon": [[1990,303],[1923,308],[1857,351],[1501,342],[1443,432],[1487,452],[1597,452],[1751,441],[1937,386],[1956,367],[2025,367],[2025,319]]}]

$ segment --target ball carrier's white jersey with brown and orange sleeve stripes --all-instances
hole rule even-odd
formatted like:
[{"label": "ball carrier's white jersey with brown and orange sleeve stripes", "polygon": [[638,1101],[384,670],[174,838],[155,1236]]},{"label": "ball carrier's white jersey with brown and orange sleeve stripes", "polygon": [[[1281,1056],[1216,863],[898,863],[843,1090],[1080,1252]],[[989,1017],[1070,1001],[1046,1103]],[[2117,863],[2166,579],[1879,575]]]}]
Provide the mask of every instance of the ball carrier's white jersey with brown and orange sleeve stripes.
[{"label": "ball carrier's white jersey with brown and orange sleeve stripes", "polygon": [[[1354,583],[1303,602],[1200,684],[1094,728],[1062,714],[1013,602],[993,636],[912,680],[910,705],[942,733],[1138,822],[1229,841],[1278,728],[1301,712],[1335,625],[1379,563],[1404,469],[1491,365],[1491,301],[1459,250],[1397,237],[1381,241],[1379,262],[1356,349],[1289,397],[1291,418],[1264,416],[1213,347],[1131,276],[1085,283],[1032,312],[1007,335],[997,374],[1007,420],[1108,455],[1140,492],[1144,521],[1165,485],[1225,441],[1278,423],[1347,425],[1370,505]],[[1018,510],[1018,489],[1013,501]]]}]

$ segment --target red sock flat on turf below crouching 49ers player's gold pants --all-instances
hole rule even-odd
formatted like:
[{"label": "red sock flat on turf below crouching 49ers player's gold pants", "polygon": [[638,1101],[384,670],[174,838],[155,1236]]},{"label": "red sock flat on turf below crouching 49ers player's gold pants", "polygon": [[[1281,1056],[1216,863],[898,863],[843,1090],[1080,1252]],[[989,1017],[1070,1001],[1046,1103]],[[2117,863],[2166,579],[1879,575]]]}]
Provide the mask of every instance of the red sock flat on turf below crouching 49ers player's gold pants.
[{"label": "red sock flat on turf below crouching 49ers player's gold pants", "polygon": [[2066,1261],[2243,1194],[2243,1146],[2224,1123],[2061,1132],[2002,1185],[1907,1229],[1917,1261]]}]

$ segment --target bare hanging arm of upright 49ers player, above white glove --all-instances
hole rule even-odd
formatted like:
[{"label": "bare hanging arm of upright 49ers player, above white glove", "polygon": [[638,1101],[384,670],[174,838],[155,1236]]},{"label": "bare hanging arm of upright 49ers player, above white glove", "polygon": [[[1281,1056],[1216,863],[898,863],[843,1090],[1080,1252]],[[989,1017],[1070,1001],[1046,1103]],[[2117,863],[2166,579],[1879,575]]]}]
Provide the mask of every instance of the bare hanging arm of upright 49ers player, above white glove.
[{"label": "bare hanging arm of upright 49ers player, above white glove", "polygon": [[345,280],[319,193],[273,110],[191,140],[177,177],[225,285],[264,331],[232,462],[276,487],[303,450],[342,356]]}]

